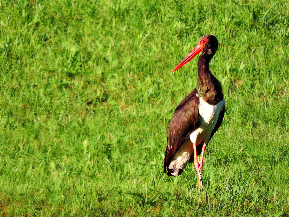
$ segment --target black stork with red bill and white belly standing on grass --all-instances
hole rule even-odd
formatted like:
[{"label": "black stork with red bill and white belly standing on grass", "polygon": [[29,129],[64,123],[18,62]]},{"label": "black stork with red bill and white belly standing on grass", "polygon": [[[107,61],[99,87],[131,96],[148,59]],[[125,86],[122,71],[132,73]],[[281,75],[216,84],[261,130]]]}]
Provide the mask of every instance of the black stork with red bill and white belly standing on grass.
[{"label": "black stork with red bill and white belly standing on grass", "polygon": [[[168,129],[164,158],[164,172],[168,176],[180,175],[187,163],[194,162],[203,187],[202,169],[205,147],[221,126],[225,112],[225,100],[221,83],[209,70],[209,63],[218,49],[213,35],[204,35],[197,46],[175,69],[181,68],[201,51],[198,62],[197,87],[175,109]],[[194,158],[190,159],[192,154]],[[198,161],[197,156],[201,154]]]}]

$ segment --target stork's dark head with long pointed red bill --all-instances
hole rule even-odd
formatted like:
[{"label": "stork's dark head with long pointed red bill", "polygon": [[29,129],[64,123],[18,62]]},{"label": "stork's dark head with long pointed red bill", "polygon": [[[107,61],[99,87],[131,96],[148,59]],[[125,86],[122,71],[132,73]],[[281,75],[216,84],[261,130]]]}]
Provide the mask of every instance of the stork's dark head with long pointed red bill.
[{"label": "stork's dark head with long pointed red bill", "polygon": [[218,40],[213,35],[203,35],[197,44],[197,46],[190,52],[190,54],[184,58],[183,61],[180,62],[177,67],[173,70],[176,71],[179,68],[181,68],[183,65],[185,65],[187,62],[189,62],[192,58],[194,58],[197,54],[199,54],[201,51],[206,51],[209,53],[210,56],[214,56],[218,49]]}]

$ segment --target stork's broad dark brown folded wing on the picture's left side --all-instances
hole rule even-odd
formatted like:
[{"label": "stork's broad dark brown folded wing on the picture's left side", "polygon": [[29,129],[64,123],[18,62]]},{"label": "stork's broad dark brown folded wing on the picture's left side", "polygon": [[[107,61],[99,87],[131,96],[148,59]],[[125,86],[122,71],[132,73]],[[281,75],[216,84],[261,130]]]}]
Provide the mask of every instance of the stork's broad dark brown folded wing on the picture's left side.
[{"label": "stork's broad dark brown folded wing on the picture's left side", "polygon": [[199,127],[199,97],[194,89],[177,106],[168,128],[168,140],[164,157],[164,172],[167,171],[172,157],[190,134]]}]

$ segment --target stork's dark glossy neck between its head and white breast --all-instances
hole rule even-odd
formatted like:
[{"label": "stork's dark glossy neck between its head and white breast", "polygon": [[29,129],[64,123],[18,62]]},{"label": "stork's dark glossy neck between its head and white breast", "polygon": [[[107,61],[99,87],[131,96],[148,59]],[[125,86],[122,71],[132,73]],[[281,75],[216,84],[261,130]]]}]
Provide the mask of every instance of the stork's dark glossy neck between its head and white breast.
[{"label": "stork's dark glossy neck between its head and white breast", "polygon": [[204,51],[199,57],[199,82],[197,91],[200,97],[209,104],[215,105],[223,100],[223,90],[221,83],[212,75],[209,70],[209,63],[214,54],[209,51]]}]

